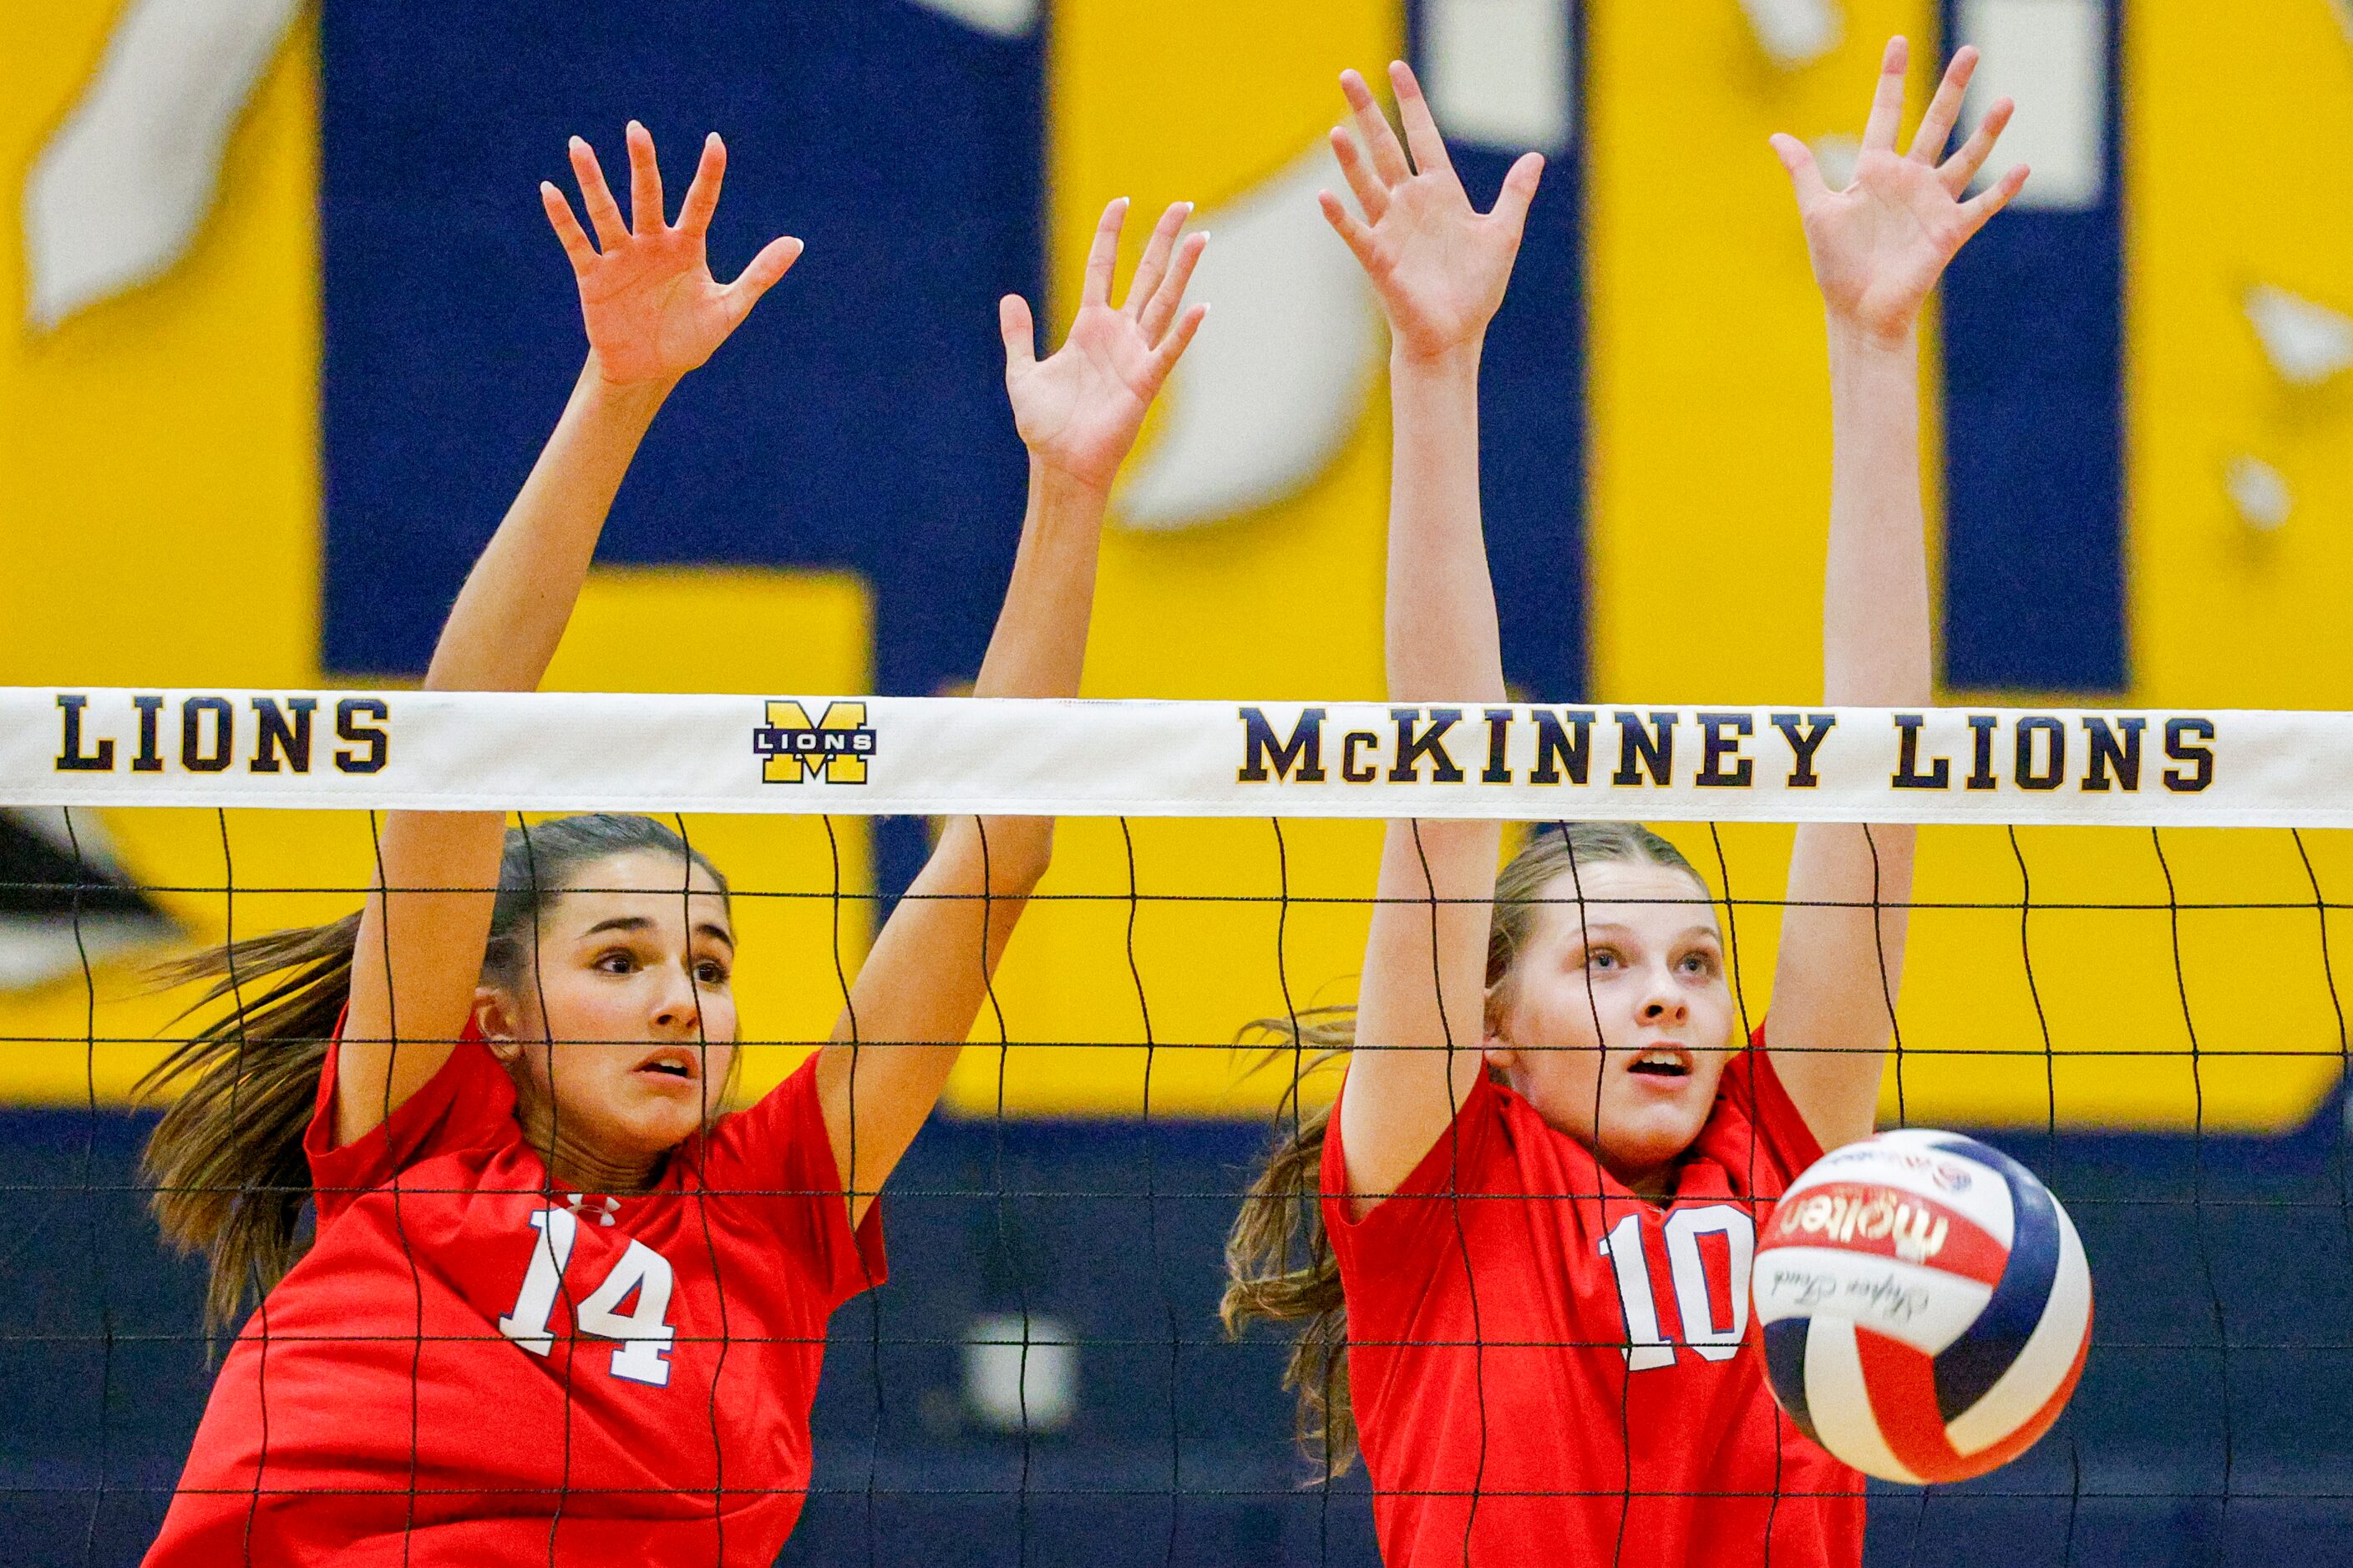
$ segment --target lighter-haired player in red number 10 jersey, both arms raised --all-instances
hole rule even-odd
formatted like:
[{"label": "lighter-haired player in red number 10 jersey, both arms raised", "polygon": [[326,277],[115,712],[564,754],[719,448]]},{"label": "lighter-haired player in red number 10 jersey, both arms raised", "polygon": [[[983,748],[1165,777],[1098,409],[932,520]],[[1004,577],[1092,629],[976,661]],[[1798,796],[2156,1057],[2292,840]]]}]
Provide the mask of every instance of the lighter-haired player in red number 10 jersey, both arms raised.
[{"label": "lighter-haired player in red number 10 jersey, both arms raised", "polygon": [[[1897,153],[1904,59],[1889,42],[1845,190],[1774,141],[1831,324],[1824,701],[1842,705],[1929,696],[1918,315],[2026,174],[1967,197],[2007,101],[1941,160],[1967,49]],[[1332,141],[1362,219],[1322,197],[1393,336],[1388,696],[1501,703],[1478,364],[1539,165],[1480,216],[1412,73],[1391,80],[1405,146],[1344,78],[1358,136]],[[1659,578],[1673,637],[1671,559]],[[1499,877],[1499,832],[1388,827],[1358,1048],[1329,1119],[1304,1119],[1252,1192],[1228,1324],[1308,1319],[1301,1429],[1346,1460],[1353,1415],[1391,1568],[1852,1566],[1861,1476],[1772,1403],[1748,1260],[1772,1197],[1871,1133],[1913,832],[1798,830],[1772,1023],[1748,1048],[1711,893],[1671,844],[1539,827]],[[1344,1020],[1313,1023],[1308,1044],[1344,1044]]]}]

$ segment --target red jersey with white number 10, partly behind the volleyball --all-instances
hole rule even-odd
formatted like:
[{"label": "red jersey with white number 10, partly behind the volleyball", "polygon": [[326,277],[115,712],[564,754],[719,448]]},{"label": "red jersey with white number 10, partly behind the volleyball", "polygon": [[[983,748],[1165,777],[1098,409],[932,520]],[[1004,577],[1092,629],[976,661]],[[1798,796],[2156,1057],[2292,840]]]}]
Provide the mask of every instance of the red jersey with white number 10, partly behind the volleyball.
[{"label": "red jersey with white number 10, partly behind the volleyball", "polygon": [[1748,1309],[1772,1199],[1821,1157],[1762,1037],[1664,1204],[1482,1077],[1351,1220],[1334,1112],[1322,1215],[1388,1568],[1861,1561],[1864,1476],[1781,1415]]}]

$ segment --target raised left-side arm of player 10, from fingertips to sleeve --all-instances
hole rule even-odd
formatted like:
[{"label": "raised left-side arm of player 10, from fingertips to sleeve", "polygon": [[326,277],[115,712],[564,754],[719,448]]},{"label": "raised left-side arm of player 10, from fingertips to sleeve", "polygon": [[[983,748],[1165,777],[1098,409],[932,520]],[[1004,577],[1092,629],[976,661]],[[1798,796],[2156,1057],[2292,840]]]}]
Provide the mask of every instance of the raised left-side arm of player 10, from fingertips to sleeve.
[{"label": "raised left-side arm of player 10, from fingertips to sleeve", "polygon": [[[1362,219],[1322,195],[1325,219],[1362,263],[1391,331],[1388,698],[1499,703],[1504,656],[1478,501],[1478,367],[1544,160],[1529,153],[1513,165],[1494,212],[1475,212],[1414,73],[1402,63],[1388,73],[1405,146],[1365,80],[1341,75],[1358,136],[1334,129],[1332,148]],[[1464,717],[1475,722],[1475,710]],[[1358,1048],[1339,1107],[1358,1213],[1412,1175],[1478,1081],[1499,849],[1494,823],[1391,823],[1384,837]]]}]

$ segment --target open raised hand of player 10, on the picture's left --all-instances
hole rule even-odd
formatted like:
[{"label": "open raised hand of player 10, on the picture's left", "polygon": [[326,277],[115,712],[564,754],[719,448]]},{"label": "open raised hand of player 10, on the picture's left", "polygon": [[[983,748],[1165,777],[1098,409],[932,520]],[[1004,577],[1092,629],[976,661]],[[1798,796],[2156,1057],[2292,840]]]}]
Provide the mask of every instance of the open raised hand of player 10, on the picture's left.
[{"label": "open raised hand of player 10, on the picture's left", "polygon": [[1402,146],[1372,101],[1365,78],[1355,71],[1339,78],[1355,113],[1355,136],[1334,125],[1332,150],[1365,216],[1358,219],[1329,190],[1318,193],[1318,200],[1372,277],[1395,346],[1414,357],[1438,357],[1478,343],[1504,303],[1544,158],[1527,153],[1511,165],[1494,212],[1480,214],[1464,195],[1412,68],[1391,63],[1388,80],[1398,94],[1398,118],[1405,120]]}]

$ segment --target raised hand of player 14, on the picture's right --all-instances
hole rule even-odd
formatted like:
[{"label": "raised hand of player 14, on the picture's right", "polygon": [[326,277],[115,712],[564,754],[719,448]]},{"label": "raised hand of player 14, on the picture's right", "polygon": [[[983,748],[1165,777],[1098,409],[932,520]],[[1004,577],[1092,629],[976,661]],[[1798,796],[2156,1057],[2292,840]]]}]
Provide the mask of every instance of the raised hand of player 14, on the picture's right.
[{"label": "raised hand of player 14, on the picture's right", "polygon": [[1209,235],[1176,240],[1191,214],[1193,202],[1176,202],[1160,214],[1160,226],[1144,247],[1144,261],[1127,282],[1127,303],[1113,306],[1111,268],[1120,254],[1120,230],[1127,226],[1127,197],[1104,207],[1094,247],[1087,252],[1087,282],[1071,336],[1045,360],[1038,357],[1038,327],[1028,301],[1019,294],[998,301],[1005,395],[1014,404],[1021,442],[1047,468],[1096,491],[1111,489],[1127,449],[1136,444],[1146,409],[1209,315],[1209,306],[1193,306],[1179,315],[1193,266],[1209,244]]}]

